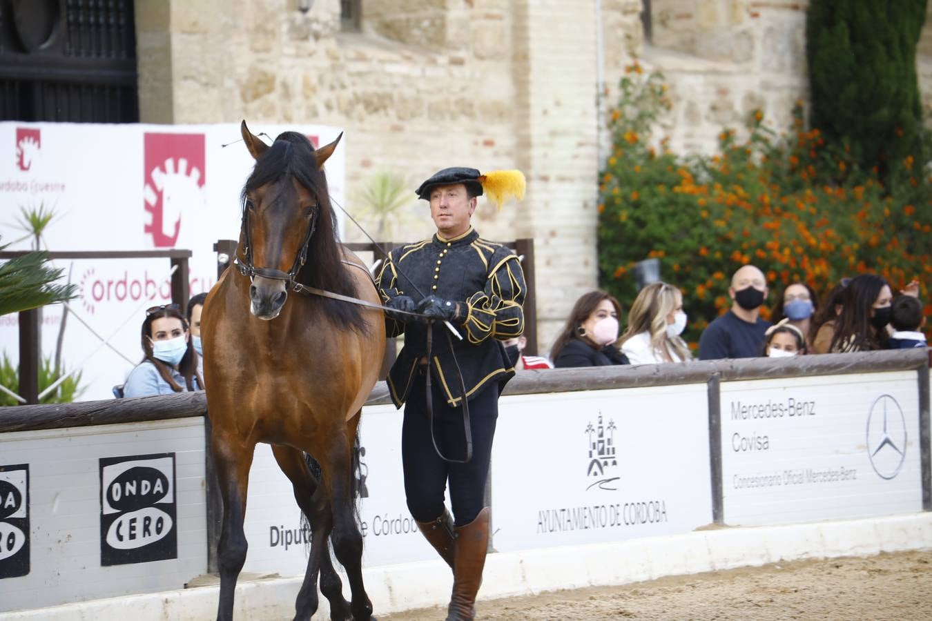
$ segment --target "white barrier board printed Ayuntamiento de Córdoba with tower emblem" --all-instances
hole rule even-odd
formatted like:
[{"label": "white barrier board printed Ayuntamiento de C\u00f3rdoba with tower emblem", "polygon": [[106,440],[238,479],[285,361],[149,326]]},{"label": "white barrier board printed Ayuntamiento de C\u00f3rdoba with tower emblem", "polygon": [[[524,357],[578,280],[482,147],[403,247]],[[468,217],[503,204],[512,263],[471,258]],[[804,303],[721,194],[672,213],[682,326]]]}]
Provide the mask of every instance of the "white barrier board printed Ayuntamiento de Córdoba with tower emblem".
[{"label": "white barrier board printed Ayuntamiento de C\u00f3rdoba with tower emblem", "polygon": [[500,399],[500,551],[686,533],[712,521],[706,385]]}]

